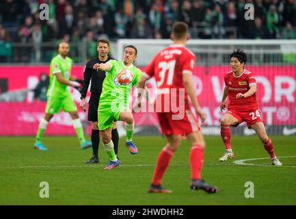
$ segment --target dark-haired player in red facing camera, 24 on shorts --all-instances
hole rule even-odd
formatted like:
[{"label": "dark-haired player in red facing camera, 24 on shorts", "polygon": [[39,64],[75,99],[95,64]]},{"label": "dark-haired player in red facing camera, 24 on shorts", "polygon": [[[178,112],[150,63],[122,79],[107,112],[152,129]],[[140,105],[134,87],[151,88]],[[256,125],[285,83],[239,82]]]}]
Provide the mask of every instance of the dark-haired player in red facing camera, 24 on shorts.
[{"label": "dark-haired player in red facing camera, 24 on shorts", "polygon": [[232,71],[224,75],[225,88],[221,100],[220,109],[226,109],[226,99],[230,103],[227,106],[227,112],[221,118],[221,138],[225,144],[226,153],[220,157],[220,162],[234,158],[231,149],[230,126],[237,126],[244,121],[249,129],[254,129],[257,136],[263,142],[264,148],[269,153],[271,164],[282,166],[282,163],[276,158],[273,144],[267,136],[261,112],[256,101],[256,78],[253,73],[245,69],[247,55],[241,49],[233,51],[230,54],[230,66]]}]

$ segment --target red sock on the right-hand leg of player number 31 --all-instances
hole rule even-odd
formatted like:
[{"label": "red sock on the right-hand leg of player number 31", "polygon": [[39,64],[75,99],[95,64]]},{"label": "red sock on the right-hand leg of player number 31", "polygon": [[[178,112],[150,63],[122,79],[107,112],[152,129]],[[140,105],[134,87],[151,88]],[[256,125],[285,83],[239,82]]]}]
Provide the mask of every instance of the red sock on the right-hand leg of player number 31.
[{"label": "red sock on the right-hand leg of player number 31", "polygon": [[199,144],[193,144],[190,151],[191,179],[200,179],[204,163],[204,149]]}]

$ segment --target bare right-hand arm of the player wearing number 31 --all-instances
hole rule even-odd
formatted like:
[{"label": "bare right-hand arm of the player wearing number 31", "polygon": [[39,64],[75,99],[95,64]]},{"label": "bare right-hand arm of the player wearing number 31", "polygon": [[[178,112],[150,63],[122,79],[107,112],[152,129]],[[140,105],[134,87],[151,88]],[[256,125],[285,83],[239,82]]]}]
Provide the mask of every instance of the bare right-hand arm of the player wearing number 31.
[{"label": "bare right-hand arm of the player wearing number 31", "polygon": [[183,74],[183,83],[185,90],[191,99],[191,103],[196,110],[196,113],[202,119],[202,123],[204,123],[204,120],[206,120],[206,114],[204,114],[202,108],[200,107],[200,104],[198,103],[198,99],[196,97],[196,89],[193,86],[193,79],[191,74]]}]

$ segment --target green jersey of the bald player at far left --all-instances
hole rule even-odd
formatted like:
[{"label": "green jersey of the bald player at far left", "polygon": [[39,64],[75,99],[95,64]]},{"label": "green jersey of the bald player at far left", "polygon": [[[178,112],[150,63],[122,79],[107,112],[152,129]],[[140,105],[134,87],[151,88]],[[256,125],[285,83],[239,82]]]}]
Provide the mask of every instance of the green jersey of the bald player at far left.
[{"label": "green jersey of the bald player at far left", "polygon": [[60,83],[55,77],[56,73],[61,73],[64,79],[69,80],[71,75],[72,60],[70,57],[66,59],[62,58],[61,55],[53,57],[51,60],[51,70],[50,70],[50,81],[49,90],[47,90],[47,96],[62,96],[64,92],[68,89],[67,85]]}]

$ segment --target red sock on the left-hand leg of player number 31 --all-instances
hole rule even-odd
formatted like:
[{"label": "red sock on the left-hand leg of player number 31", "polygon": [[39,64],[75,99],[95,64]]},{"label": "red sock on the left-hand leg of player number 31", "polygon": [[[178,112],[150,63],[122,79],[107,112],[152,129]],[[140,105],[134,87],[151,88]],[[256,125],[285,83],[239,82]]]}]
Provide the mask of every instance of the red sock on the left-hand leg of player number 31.
[{"label": "red sock on the left-hand leg of player number 31", "polygon": [[163,178],[165,170],[167,170],[167,166],[169,166],[170,160],[172,159],[174,153],[175,151],[168,146],[165,146],[161,153],[159,153],[159,157],[157,158],[157,166],[155,166],[152,179],[153,185],[161,185],[161,179]]}]

